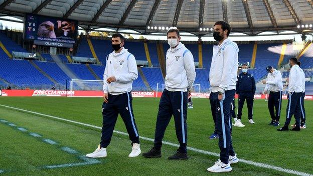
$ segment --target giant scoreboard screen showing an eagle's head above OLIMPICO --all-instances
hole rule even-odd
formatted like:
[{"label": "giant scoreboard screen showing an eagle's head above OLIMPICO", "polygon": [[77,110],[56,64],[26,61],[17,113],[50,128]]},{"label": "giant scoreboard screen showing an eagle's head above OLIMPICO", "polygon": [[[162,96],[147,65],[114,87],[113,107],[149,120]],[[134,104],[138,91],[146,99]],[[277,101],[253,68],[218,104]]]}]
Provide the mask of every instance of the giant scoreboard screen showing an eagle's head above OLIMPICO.
[{"label": "giant scoreboard screen showing an eagle's head above OLIMPICO", "polygon": [[78,22],[62,18],[27,14],[25,40],[35,45],[73,48],[78,35]]}]

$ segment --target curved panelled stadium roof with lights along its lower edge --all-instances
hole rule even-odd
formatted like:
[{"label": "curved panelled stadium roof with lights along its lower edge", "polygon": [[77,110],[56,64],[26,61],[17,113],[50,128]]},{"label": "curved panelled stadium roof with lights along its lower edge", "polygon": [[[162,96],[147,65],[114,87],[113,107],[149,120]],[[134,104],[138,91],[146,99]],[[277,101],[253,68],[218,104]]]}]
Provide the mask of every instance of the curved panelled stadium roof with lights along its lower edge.
[{"label": "curved panelled stadium roof with lights along its lower edge", "polygon": [[87,31],[131,29],[149,34],[177,26],[197,36],[210,34],[214,22],[223,20],[233,31],[253,36],[311,31],[312,5],[313,0],[0,0],[0,13],[68,18]]}]

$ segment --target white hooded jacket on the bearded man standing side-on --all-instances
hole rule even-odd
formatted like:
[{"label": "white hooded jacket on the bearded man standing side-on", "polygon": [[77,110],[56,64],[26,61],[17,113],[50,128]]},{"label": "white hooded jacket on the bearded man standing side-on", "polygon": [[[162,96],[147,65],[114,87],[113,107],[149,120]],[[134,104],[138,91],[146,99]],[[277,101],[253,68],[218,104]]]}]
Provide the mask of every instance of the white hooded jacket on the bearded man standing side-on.
[{"label": "white hooded jacket on the bearded man standing side-on", "polygon": [[212,92],[225,92],[236,89],[239,48],[235,42],[226,39],[219,46],[213,46],[210,68]]}]

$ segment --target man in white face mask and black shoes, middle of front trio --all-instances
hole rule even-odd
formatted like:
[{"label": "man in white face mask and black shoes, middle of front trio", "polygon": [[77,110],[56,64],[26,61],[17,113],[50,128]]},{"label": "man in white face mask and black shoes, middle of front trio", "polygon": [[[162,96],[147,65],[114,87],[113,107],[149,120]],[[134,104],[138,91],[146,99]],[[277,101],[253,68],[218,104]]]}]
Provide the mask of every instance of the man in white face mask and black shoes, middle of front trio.
[{"label": "man in white face mask and black shoes, middle of front trio", "polygon": [[[188,90],[196,79],[194,57],[180,42],[181,37],[176,27],[167,32],[171,46],[166,55],[165,86],[156,118],[154,145],[145,153],[145,157],[161,157],[162,139],[165,130],[174,115],[176,136],[180,143],[177,152],[169,159],[188,159],[187,155],[187,97]],[[191,92],[189,91],[189,94]]]}]

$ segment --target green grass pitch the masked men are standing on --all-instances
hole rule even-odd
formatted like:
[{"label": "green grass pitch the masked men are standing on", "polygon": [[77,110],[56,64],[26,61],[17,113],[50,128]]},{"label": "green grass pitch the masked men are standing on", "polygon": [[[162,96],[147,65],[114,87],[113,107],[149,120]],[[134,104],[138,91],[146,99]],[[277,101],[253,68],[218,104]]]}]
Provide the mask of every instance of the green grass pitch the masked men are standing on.
[{"label": "green grass pitch the masked men are standing on", "polygon": [[[214,130],[209,99],[193,100],[194,109],[188,110],[187,119],[188,146],[219,153],[218,140],[208,138]],[[283,100],[281,123],[285,121],[286,103]],[[102,98],[0,97],[0,104],[99,127],[102,124]],[[158,105],[158,98],[133,98],[140,136],[153,138]],[[238,158],[313,174],[312,105],[313,101],[305,101],[307,128],[299,132],[279,132],[276,131],[278,127],[268,125],[270,117],[264,100],[255,100],[255,124],[248,124],[244,107],[242,122],[246,127],[234,127],[232,136]],[[101,136],[98,128],[3,106],[0,106],[0,119],[5,120],[0,122],[0,175],[296,175],[243,162],[232,164],[233,170],[228,173],[209,173],[206,169],[214,164],[217,156],[189,150],[188,160],[168,160],[177,147],[167,144],[163,145],[161,158],[141,155],[129,158],[131,144],[128,136],[117,133],[113,133],[106,158],[86,161],[81,156],[97,147]],[[293,117],[291,123],[294,123]],[[126,132],[120,117],[115,130]],[[44,139],[56,143],[50,144]],[[164,141],[178,143],[173,118]],[[151,146],[151,141],[140,140],[142,152]],[[63,147],[76,153],[64,151]]]}]

